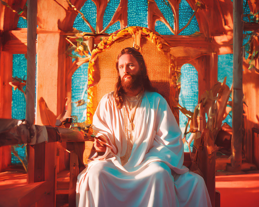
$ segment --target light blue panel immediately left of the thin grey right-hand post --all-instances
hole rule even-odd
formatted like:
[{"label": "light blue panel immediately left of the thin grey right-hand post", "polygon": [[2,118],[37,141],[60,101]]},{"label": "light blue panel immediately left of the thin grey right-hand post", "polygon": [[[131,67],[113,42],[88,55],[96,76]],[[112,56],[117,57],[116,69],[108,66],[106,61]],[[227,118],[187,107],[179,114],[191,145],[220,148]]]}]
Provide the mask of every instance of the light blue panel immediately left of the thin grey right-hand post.
[{"label": "light blue panel immediately left of the thin grey right-hand post", "polygon": [[[229,88],[233,82],[233,54],[225,54],[218,56],[218,80],[223,82],[224,78],[227,77],[226,84]],[[229,98],[231,100],[231,98]],[[226,122],[232,127],[232,111],[227,115],[223,123]]]}]

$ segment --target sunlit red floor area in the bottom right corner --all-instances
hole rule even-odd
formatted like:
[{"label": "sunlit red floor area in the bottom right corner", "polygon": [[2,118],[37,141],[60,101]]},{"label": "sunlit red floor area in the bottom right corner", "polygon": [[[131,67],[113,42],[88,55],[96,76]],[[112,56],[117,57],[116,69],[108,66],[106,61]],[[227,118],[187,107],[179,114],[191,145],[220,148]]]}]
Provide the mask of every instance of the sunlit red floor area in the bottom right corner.
[{"label": "sunlit red floor area in the bottom right corner", "polygon": [[216,176],[220,207],[259,207],[259,173]]}]

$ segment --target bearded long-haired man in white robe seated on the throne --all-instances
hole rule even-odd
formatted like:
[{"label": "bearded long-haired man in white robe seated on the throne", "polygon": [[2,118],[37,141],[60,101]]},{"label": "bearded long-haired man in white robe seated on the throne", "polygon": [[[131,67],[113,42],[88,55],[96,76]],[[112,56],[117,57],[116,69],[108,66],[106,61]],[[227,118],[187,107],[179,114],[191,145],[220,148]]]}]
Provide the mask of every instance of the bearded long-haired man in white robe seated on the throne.
[{"label": "bearded long-haired man in white robe seated on the throne", "polygon": [[95,150],[78,175],[77,206],[211,206],[202,177],[183,166],[181,130],[143,56],[125,48],[116,68],[115,91],[93,116]]}]

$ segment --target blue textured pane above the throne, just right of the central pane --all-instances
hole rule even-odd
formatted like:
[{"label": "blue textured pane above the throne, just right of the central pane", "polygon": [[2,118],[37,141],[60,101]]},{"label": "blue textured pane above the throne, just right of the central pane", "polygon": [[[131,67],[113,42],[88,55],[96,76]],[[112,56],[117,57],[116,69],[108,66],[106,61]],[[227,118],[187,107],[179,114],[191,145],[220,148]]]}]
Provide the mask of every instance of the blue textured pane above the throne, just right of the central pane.
[{"label": "blue textured pane above the throne, just right of the central pane", "polygon": [[[168,1],[156,0],[155,2],[157,4],[158,8],[160,9],[160,11],[162,12],[164,18],[166,18],[169,25],[172,27],[172,29],[174,29],[174,15],[173,15],[171,6],[168,3]],[[155,31],[162,35],[172,35],[173,34],[169,30],[169,28],[161,21],[156,21]]]}]

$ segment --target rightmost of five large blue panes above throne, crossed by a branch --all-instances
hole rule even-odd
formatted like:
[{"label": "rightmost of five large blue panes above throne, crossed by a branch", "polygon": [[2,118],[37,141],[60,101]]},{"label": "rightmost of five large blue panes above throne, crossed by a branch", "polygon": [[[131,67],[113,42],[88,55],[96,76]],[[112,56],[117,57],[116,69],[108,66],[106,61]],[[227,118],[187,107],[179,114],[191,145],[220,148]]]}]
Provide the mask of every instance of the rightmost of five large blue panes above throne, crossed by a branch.
[{"label": "rightmost of five large blue panes above throne, crossed by a branch", "polygon": [[[187,24],[193,13],[194,11],[191,6],[185,0],[182,0],[179,4],[179,30]],[[196,31],[199,32],[200,29],[197,19],[194,16],[190,24],[181,33],[179,33],[179,35],[191,35]]]}]

